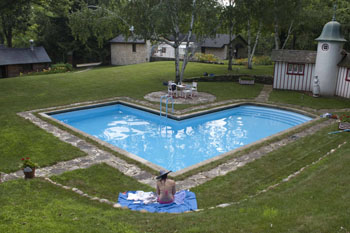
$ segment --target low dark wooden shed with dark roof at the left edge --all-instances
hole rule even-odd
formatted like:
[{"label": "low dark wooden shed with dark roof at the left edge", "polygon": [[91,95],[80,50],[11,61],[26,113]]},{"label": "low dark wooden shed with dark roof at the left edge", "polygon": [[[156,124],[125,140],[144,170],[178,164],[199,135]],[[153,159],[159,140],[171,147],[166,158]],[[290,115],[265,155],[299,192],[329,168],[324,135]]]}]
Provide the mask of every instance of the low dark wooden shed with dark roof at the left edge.
[{"label": "low dark wooden shed with dark roof at the left edge", "polygon": [[44,47],[0,47],[0,78],[15,77],[20,73],[38,72],[50,66],[51,59]]}]

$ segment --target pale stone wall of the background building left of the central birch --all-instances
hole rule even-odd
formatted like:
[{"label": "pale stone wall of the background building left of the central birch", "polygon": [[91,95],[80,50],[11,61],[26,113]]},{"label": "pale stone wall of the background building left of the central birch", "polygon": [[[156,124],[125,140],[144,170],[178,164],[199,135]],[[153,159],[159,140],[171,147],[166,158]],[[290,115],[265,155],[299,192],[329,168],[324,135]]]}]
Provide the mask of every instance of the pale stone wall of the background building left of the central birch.
[{"label": "pale stone wall of the background building left of the central birch", "polygon": [[136,44],[136,52],[133,52],[132,46],[133,44],[130,43],[112,43],[112,65],[131,65],[149,62],[150,42],[147,41],[145,44]]}]

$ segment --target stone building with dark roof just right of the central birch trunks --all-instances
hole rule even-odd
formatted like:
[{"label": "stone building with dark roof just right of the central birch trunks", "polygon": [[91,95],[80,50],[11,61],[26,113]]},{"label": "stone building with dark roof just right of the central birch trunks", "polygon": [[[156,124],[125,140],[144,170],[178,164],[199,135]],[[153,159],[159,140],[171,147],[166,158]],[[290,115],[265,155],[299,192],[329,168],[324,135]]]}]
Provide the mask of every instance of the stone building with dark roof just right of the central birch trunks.
[{"label": "stone building with dark roof just right of the central birch trunks", "polygon": [[[231,39],[234,58],[247,57],[248,43],[240,35],[233,35]],[[216,57],[225,60],[228,58],[229,43],[230,36],[228,34],[216,34],[213,38],[204,38],[199,43],[199,47],[201,53],[214,54]]]}]

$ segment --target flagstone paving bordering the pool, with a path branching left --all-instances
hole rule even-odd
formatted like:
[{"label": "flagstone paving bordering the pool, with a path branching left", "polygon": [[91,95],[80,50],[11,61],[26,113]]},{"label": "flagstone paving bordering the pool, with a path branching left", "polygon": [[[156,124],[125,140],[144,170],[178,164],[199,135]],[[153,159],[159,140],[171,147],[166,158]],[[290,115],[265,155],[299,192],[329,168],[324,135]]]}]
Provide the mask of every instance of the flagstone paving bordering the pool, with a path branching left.
[{"label": "flagstone paving bordering the pool, with a path branching left", "polygon": [[[262,93],[256,98],[257,102],[265,102],[267,101],[268,98],[268,93],[272,89],[267,87],[264,88]],[[150,103],[148,101],[135,101],[130,98],[113,98],[109,99],[107,101],[116,101],[116,100],[123,100],[123,101],[130,101],[134,102],[137,104],[141,105],[146,105],[148,107],[153,107],[156,108],[156,104]],[[243,101],[244,100],[238,100]],[[230,101],[222,101],[222,102],[216,102],[216,103],[209,103],[209,104],[202,104],[199,106],[194,106],[185,110],[179,110],[175,111],[175,114],[184,114],[188,113],[191,111],[196,111],[196,110],[201,110],[201,109],[206,109],[206,108],[211,108],[215,106],[221,106],[225,104],[230,104],[230,103],[236,103],[237,100],[230,100]],[[74,107],[74,106],[79,106],[79,105],[85,105],[85,104],[94,104],[97,103],[96,101],[94,102],[85,102],[85,103],[78,103],[78,104],[72,104],[69,105],[69,107]],[[34,111],[28,111],[28,112],[22,112],[18,113],[19,116],[31,121],[38,127],[44,129],[45,131],[53,134],[57,138],[59,138],[61,141],[69,143],[75,147],[78,147],[80,150],[85,152],[87,156],[80,157],[80,158],[75,158],[69,161],[62,161],[58,162],[57,164],[53,166],[48,166],[48,167],[43,167],[43,168],[38,168],[36,170],[36,176],[37,177],[50,177],[52,175],[60,175],[66,171],[73,171],[76,169],[84,169],[88,168],[94,164],[99,164],[99,163],[106,163],[120,172],[122,172],[125,175],[128,175],[136,180],[138,180],[141,183],[150,185],[152,187],[155,186],[156,180],[155,176],[147,171],[144,171],[140,169],[138,166],[135,164],[129,164],[125,160],[116,157],[115,155],[101,150],[97,148],[95,145],[88,143],[82,138],[79,138],[77,136],[74,136],[64,130],[59,129],[58,127],[51,125],[50,123],[38,118],[35,113],[36,112],[43,112],[43,111],[50,111],[55,108],[48,108],[48,109],[40,109],[40,110],[34,110]],[[299,138],[311,135],[318,130],[322,129],[325,126],[328,126],[330,124],[334,123],[334,120],[327,120],[322,123],[316,124],[314,126],[311,126],[310,128],[296,133],[295,135],[284,138],[282,140],[279,140],[277,142],[271,143],[267,146],[260,147],[259,149],[245,154],[241,157],[238,158],[233,158],[225,163],[217,166],[214,169],[204,171],[204,172],[199,172],[193,176],[190,176],[186,178],[185,180],[177,181],[177,186],[179,189],[190,189],[193,188],[199,184],[203,184],[216,176],[222,176],[227,174],[228,172],[234,171],[239,167],[244,166],[245,164],[252,162],[258,158],[261,158],[262,156],[268,154],[269,152],[278,149],[282,146],[287,145],[288,143],[291,143],[295,140],[298,140]],[[13,179],[19,179],[23,178],[23,172],[21,170],[10,173],[10,174],[4,174],[1,176],[2,181],[8,181],[8,180],[13,180]]]}]

